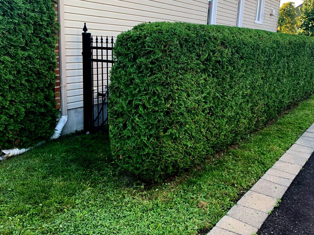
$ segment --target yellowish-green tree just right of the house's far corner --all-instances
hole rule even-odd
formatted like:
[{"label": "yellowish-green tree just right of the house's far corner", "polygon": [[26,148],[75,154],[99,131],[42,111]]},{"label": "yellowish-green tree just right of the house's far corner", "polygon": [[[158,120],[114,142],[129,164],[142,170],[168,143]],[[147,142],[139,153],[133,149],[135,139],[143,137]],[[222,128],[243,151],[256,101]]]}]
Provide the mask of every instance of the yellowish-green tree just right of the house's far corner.
[{"label": "yellowish-green tree just right of the house's far corner", "polygon": [[292,2],[284,3],[279,9],[278,31],[296,34],[297,12]]}]

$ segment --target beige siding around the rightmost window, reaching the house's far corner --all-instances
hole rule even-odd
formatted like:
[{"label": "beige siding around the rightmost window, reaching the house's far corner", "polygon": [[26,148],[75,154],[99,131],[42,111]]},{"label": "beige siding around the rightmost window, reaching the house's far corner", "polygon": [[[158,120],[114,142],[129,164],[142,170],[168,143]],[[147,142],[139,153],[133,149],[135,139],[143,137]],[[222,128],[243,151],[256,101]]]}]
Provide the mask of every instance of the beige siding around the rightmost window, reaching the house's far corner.
[{"label": "beige siding around the rightmost window, reaching the house's far corner", "polygon": [[[256,0],[245,0],[242,27],[276,32],[279,12],[279,1],[265,0],[262,24],[257,24],[254,22],[256,7],[257,7]],[[270,15],[271,8],[273,8],[276,11],[276,15]]]}]

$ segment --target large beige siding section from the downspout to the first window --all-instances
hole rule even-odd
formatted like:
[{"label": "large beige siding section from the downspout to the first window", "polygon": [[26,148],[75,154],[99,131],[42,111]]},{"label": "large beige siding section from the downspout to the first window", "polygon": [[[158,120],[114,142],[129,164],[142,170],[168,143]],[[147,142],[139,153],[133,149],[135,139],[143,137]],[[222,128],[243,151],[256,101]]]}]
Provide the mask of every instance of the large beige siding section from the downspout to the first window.
[{"label": "large beige siding section from the downspout to the first window", "polygon": [[122,31],[142,22],[205,24],[206,12],[207,0],[64,0],[68,109],[83,107],[81,38],[84,22],[93,36],[110,36],[110,41],[111,36],[116,39]]}]

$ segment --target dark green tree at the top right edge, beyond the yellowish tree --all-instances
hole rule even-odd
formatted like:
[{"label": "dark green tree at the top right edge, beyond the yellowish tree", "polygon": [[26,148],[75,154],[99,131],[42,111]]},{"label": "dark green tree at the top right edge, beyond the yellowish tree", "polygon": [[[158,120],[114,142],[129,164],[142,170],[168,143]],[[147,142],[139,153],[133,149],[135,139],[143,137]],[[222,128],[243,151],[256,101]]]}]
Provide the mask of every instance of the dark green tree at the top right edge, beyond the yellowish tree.
[{"label": "dark green tree at the top right edge, beyond the yellowish tree", "polygon": [[300,8],[299,33],[314,36],[314,0],[304,0]]}]

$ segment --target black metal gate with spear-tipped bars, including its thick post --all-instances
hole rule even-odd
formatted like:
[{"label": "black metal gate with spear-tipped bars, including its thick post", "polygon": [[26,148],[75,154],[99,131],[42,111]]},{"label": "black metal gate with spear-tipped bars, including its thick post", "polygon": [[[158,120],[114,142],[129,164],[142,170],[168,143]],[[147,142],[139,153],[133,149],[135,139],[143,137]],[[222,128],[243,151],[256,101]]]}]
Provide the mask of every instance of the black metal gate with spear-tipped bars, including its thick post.
[{"label": "black metal gate with spear-tipped bars, including its thick post", "polygon": [[102,36],[96,36],[94,42],[85,23],[83,31],[84,131],[108,130],[109,72],[115,62],[112,58],[113,36],[111,42],[108,36],[105,42]]}]

